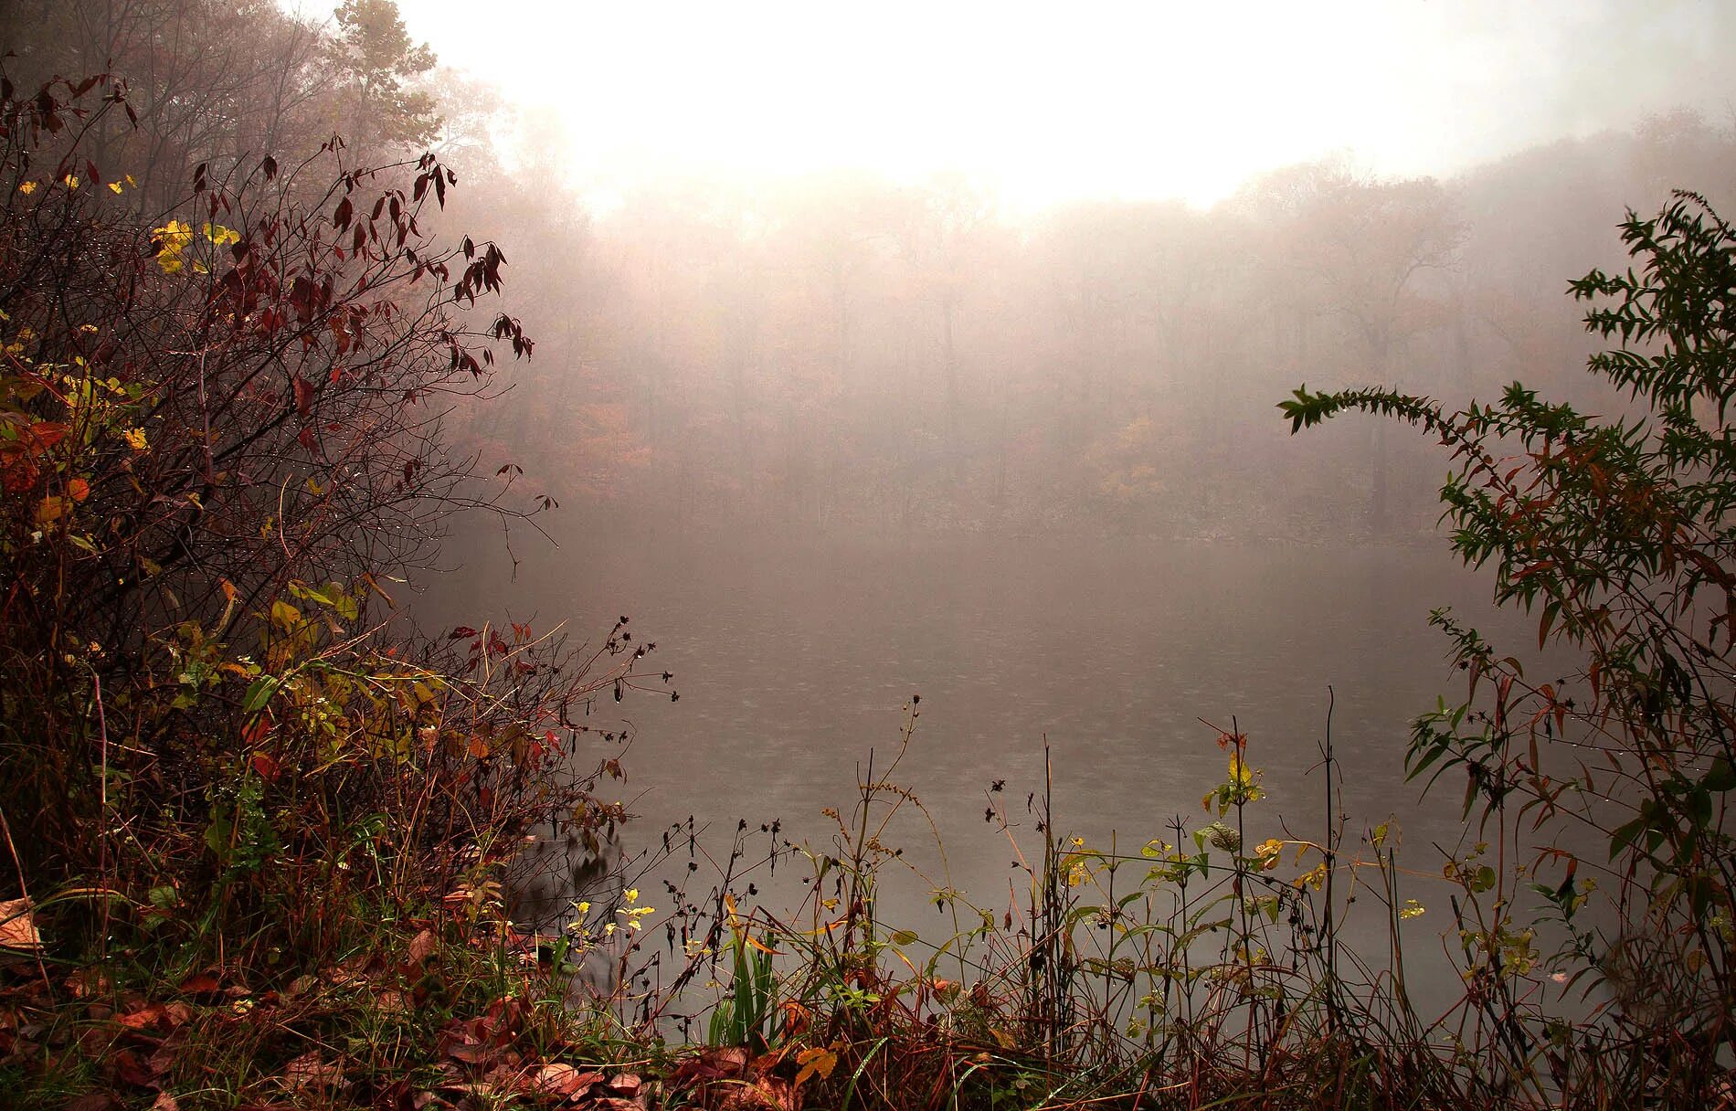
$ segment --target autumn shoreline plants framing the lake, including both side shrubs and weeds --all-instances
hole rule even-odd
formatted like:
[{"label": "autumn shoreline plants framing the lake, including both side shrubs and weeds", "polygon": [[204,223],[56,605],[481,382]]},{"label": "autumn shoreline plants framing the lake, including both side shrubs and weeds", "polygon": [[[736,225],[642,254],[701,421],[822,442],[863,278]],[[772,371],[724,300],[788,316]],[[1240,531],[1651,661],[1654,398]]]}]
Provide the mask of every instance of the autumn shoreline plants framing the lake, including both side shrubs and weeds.
[{"label": "autumn shoreline plants framing the lake, including both side shrubs and weeds", "polygon": [[[535,340],[496,307],[502,252],[425,231],[451,170],[326,144],[151,207],[90,149],[130,113],[108,76],[0,83],[0,1101],[1736,1106],[1736,234],[1701,198],[1632,215],[1634,269],[1571,285],[1611,345],[1590,370],[1642,415],[1517,384],[1281,406],[1439,439],[1453,550],[1583,660],[1542,682],[1436,615],[1467,696],[1408,766],[1463,793],[1474,842],[1401,864],[1396,826],[1335,819],[1330,717],[1319,811],[1281,826],[1231,722],[1201,812],[1137,845],[990,785],[1019,904],[918,875],[943,925],[917,932],[877,896],[934,828],[899,779],[920,698],[825,840],[689,823],[628,868],[597,793],[627,738],[587,712],[679,698],[656,646],[625,616],[594,641],[392,623],[450,514],[554,507],[462,448]],[[594,892],[545,932],[510,910],[538,868]],[[779,868],[795,906],[759,897]],[[1384,953],[1342,944],[1352,897]],[[1460,963],[1444,1014],[1406,989],[1417,918]]]}]

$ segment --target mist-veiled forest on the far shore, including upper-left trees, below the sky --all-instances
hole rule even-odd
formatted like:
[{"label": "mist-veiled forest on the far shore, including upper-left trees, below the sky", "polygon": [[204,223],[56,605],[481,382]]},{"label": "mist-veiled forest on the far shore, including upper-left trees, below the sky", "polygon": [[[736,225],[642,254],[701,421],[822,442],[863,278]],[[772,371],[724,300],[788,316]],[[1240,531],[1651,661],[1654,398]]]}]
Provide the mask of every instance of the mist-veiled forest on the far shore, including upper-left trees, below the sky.
[{"label": "mist-veiled forest on the far shore, including upper-left trees, below the sky", "polygon": [[1522,377],[1611,411],[1568,279],[1614,260],[1628,207],[1719,203],[1736,177],[1736,123],[1680,108],[1446,179],[1332,154],[1212,207],[1012,212],[981,175],[866,170],[589,205],[564,125],[443,69],[391,5],[109,7],[21,2],[0,40],[21,85],[130,76],[139,127],[99,146],[141,210],[198,161],[333,134],[352,167],[432,148],[460,177],[443,226],[500,243],[538,344],[453,427],[573,514],[677,535],[1415,536],[1444,472],[1429,444],[1377,424],[1290,441],[1272,406],[1304,382],[1462,403]]}]

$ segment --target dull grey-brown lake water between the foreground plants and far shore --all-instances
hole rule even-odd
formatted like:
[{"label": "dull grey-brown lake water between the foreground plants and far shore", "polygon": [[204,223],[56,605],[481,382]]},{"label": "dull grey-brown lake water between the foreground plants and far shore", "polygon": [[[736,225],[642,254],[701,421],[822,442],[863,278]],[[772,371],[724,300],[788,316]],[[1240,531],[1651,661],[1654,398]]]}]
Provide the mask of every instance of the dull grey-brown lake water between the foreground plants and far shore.
[{"label": "dull grey-brown lake water between the foreground plants and far shore", "polygon": [[[628,844],[687,814],[720,845],[738,819],[773,818],[823,844],[821,809],[851,807],[858,769],[870,752],[885,766],[901,707],[920,693],[898,778],[939,826],[950,882],[996,911],[1009,845],[984,825],[986,790],[1007,781],[1016,833],[1040,847],[1024,799],[1043,786],[1045,738],[1055,828],[1092,845],[1115,835],[1137,852],[1175,814],[1189,830],[1210,821],[1200,799],[1224,779],[1226,755],[1200,719],[1234,722],[1264,769],[1271,797],[1250,811],[1250,840],[1283,837],[1279,818],[1319,837],[1323,785],[1309,769],[1328,687],[1349,837],[1397,818],[1406,861],[1437,877],[1430,845],[1467,837],[1462,783],[1420,799],[1403,757],[1410,720],[1463,682],[1429,609],[1451,604],[1496,646],[1535,648],[1533,627],[1491,613],[1488,575],[1444,543],[681,545],[575,529],[559,549],[521,543],[519,556],[517,582],[505,559],[469,557],[431,583],[422,613],[476,623],[510,611],[592,637],[630,615],[635,639],[658,644],[646,663],[675,674],[681,701],[597,708],[599,724],[620,717],[637,733],[618,788],[644,816]],[[920,821],[898,833],[911,859],[939,866]],[[882,910],[932,920],[925,894],[911,880]],[[1444,884],[1420,878],[1406,894],[1437,896],[1415,925],[1439,955]]]}]

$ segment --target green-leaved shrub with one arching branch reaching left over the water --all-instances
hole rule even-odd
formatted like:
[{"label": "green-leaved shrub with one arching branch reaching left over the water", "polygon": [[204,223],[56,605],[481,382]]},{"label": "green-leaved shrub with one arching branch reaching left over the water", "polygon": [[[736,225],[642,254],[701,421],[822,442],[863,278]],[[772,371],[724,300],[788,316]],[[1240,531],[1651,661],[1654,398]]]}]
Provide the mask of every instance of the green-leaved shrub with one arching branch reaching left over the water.
[{"label": "green-leaved shrub with one arching branch reaching left over the water", "polygon": [[[1292,431],[1361,410],[1437,434],[1457,460],[1441,490],[1453,549],[1493,564],[1496,602],[1536,618],[1540,649],[1581,660],[1543,682],[1453,615],[1434,616],[1470,687],[1465,705],[1417,722],[1411,774],[1434,783],[1457,769],[1467,814],[1495,819],[1503,851],[1531,851],[1519,868],[1448,864],[1476,908],[1460,924],[1472,998],[1505,1022],[1529,1014],[1526,986],[1549,969],[1604,984],[1609,1002],[1581,1033],[1627,1052],[1555,1081],[1689,1106],[1674,1101],[1708,1099],[1736,1003],[1736,234],[1677,193],[1656,217],[1630,212],[1621,238],[1637,267],[1594,271],[1571,293],[1594,304],[1587,330],[1618,344],[1588,370],[1627,392],[1627,415],[1580,413],[1519,384],[1455,413],[1385,389],[1302,387],[1281,408]],[[1583,830],[1602,842],[1592,852]],[[1587,911],[1594,892],[1609,897],[1602,917]],[[1555,953],[1536,950],[1529,896],[1562,924]],[[1488,1045],[1535,1064],[1529,1038]],[[1552,1068],[1561,1061],[1552,1049]]]}]

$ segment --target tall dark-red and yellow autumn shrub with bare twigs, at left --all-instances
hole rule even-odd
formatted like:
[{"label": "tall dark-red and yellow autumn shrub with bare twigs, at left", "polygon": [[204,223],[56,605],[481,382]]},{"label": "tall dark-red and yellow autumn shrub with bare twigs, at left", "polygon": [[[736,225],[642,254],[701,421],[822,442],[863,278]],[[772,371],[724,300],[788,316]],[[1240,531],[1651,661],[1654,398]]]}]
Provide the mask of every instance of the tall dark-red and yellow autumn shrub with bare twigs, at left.
[{"label": "tall dark-red and yellow autumn shrub with bare twigs, at left", "polygon": [[420,227],[453,174],[328,144],[198,167],[141,217],[82,146],[118,111],[109,78],[0,82],[0,805],[26,894],[101,892],[92,937],[311,960],[378,901],[498,891],[536,821],[595,851],[620,812],[590,786],[620,767],[571,771],[578,710],[632,684],[632,635],[387,623],[453,510],[524,516],[443,436],[496,345],[531,354],[477,314],[500,250]]}]

